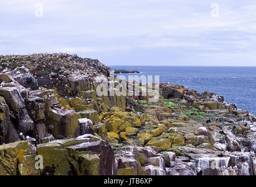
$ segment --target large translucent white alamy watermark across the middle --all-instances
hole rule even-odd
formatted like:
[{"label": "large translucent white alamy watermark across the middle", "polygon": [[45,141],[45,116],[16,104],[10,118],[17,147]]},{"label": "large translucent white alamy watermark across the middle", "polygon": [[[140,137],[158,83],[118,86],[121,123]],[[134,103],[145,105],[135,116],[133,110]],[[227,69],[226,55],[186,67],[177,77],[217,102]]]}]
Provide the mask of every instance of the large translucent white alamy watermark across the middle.
[{"label": "large translucent white alamy watermark across the middle", "polygon": [[146,96],[148,102],[159,101],[159,75],[129,75],[128,81],[124,75],[115,77],[110,71],[109,79],[103,75],[94,78],[97,84],[98,96]]}]

